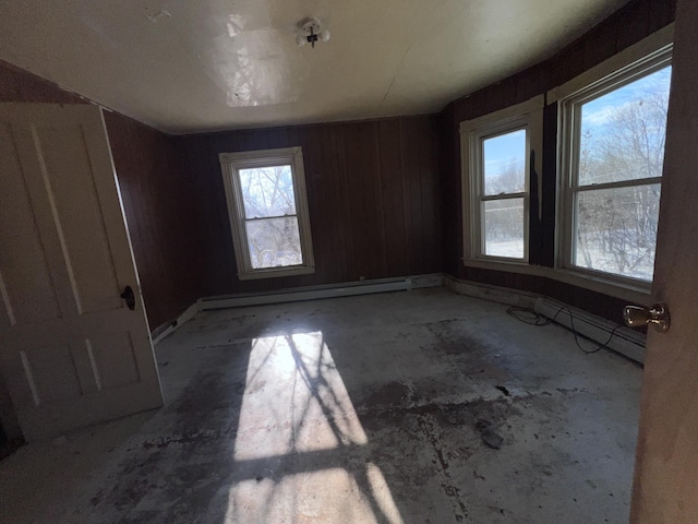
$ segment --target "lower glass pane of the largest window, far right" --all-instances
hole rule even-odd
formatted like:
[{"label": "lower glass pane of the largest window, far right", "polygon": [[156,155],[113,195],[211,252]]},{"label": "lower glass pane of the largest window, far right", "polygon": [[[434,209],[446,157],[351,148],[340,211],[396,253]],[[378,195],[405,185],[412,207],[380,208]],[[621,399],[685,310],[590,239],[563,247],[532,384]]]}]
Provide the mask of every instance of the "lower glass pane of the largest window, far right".
[{"label": "lower glass pane of the largest window, far right", "polygon": [[654,269],[659,183],[577,194],[574,263],[651,281]]}]

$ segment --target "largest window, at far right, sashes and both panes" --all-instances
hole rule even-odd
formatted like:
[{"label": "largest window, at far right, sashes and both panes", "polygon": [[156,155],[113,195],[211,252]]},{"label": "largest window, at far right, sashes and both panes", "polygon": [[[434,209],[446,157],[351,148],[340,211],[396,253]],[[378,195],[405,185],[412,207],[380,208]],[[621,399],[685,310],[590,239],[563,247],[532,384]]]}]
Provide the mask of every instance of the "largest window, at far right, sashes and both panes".
[{"label": "largest window, at far right, sashes and both panes", "polygon": [[671,49],[562,100],[565,266],[652,281]]}]

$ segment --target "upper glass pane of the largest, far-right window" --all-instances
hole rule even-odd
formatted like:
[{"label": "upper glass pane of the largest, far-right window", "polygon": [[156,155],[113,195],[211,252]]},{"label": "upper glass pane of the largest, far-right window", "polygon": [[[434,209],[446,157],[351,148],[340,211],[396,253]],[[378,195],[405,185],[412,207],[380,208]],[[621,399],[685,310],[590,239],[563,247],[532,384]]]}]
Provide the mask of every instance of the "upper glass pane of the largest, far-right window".
[{"label": "upper glass pane of the largest, far-right window", "polygon": [[581,106],[579,184],[661,177],[672,68]]}]

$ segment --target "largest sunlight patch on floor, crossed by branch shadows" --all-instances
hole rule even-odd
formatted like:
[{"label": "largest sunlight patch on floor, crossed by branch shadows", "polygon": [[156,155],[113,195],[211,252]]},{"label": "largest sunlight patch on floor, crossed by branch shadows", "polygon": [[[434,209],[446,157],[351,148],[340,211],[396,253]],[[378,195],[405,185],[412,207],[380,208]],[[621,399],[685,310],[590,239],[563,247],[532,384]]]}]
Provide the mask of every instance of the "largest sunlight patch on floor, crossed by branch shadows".
[{"label": "largest sunlight patch on floor, crossed by branch shadows", "polygon": [[239,428],[236,461],[366,443],[320,332],[252,341]]}]

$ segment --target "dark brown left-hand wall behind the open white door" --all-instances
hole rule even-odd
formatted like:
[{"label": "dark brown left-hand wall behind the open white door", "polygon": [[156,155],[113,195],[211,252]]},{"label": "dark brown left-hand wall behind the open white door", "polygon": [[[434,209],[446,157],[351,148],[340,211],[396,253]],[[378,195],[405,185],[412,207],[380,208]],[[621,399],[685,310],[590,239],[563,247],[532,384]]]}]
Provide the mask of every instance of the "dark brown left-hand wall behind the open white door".
[{"label": "dark brown left-hand wall behind the open white door", "polygon": [[[88,103],[2,61],[0,102]],[[155,329],[200,296],[192,184],[174,139],[118,114],[105,112],[105,119],[148,322]]]}]

